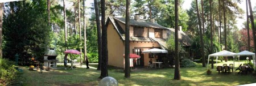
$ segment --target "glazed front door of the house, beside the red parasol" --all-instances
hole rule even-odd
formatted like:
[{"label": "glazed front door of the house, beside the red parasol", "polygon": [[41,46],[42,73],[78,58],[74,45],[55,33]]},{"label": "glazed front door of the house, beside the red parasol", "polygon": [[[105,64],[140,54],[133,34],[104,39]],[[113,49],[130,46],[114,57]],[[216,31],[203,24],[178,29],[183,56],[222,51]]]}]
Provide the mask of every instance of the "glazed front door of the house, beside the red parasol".
[{"label": "glazed front door of the house, beside the red parasol", "polygon": [[134,54],[140,55],[141,58],[133,59],[134,67],[143,67],[144,66],[144,55],[142,54],[142,49],[134,49]]}]

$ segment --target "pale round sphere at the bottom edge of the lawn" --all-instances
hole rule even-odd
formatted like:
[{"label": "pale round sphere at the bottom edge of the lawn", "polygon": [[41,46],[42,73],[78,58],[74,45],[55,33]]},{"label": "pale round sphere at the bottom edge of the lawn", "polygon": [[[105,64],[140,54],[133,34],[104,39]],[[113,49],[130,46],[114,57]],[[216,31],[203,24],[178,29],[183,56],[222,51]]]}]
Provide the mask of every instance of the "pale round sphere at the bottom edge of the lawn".
[{"label": "pale round sphere at the bottom edge of the lawn", "polygon": [[99,86],[118,86],[117,80],[108,76],[101,79]]}]

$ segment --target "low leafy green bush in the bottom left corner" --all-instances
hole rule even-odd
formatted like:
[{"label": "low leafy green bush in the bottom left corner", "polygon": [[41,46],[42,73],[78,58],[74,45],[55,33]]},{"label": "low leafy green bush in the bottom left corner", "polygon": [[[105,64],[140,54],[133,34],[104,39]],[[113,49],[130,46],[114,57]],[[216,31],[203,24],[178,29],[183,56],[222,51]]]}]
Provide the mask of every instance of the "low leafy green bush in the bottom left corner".
[{"label": "low leafy green bush in the bottom left corner", "polygon": [[9,59],[0,59],[0,79],[7,84],[13,81],[17,75],[16,66],[14,62]]}]

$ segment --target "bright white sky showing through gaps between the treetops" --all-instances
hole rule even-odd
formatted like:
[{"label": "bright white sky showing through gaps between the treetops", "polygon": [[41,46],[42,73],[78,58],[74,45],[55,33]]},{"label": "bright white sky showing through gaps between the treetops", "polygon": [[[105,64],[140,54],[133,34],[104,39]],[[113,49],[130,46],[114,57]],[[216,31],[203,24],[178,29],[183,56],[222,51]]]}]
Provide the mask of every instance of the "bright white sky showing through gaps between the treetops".
[{"label": "bright white sky showing through gaps between the treetops", "polygon": [[[192,0],[184,0],[182,8],[184,10],[188,10],[191,7],[191,2],[192,2]],[[85,1],[85,6],[92,7],[92,3],[93,3],[93,0],[86,0]],[[72,5],[73,5],[73,3],[71,3],[71,2],[67,3],[67,6],[72,6]],[[255,5],[256,5],[256,1],[255,0],[251,0],[251,7],[254,7]],[[245,11],[245,14],[243,14],[243,19],[236,19],[237,23],[238,23],[237,27],[239,29],[242,29],[244,27],[242,25],[242,23],[246,21],[246,4],[245,4],[245,0],[242,0],[242,2],[239,3],[239,6],[242,8],[243,11]],[[88,9],[88,11],[90,11],[90,10]],[[86,16],[90,17],[89,14],[86,15]]]}]

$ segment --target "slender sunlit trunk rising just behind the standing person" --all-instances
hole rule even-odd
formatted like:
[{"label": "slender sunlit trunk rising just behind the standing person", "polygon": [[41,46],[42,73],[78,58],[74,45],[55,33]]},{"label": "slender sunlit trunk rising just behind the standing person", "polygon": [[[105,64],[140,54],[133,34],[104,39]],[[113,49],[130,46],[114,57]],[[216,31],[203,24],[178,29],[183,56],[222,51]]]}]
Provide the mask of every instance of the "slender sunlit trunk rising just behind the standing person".
[{"label": "slender sunlit trunk rising just behind the standing person", "polygon": [[[85,0],[82,0],[82,9],[84,14],[84,61],[86,59],[87,51],[86,51],[86,23],[85,23]],[[88,58],[87,58],[88,59]]]}]

